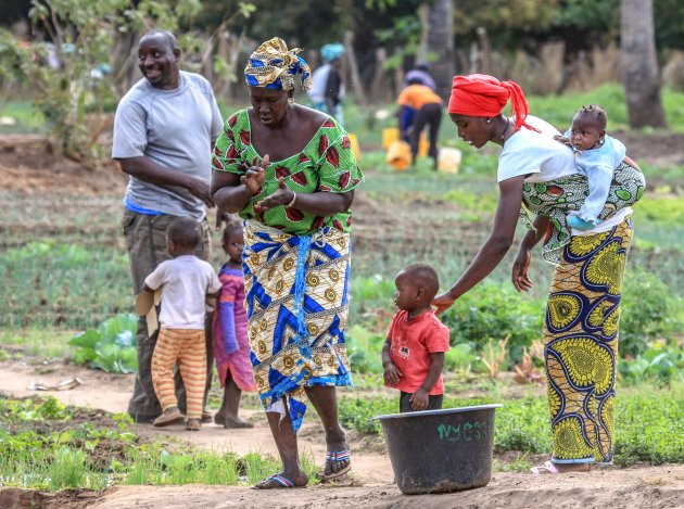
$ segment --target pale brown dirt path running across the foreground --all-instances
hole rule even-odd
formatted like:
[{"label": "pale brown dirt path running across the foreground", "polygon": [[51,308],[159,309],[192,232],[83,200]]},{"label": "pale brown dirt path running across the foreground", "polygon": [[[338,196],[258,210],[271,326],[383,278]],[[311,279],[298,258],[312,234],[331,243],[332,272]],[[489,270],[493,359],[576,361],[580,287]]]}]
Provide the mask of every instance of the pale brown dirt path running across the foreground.
[{"label": "pale brown dirt path running across the foreground", "polygon": [[[56,384],[78,377],[83,382],[71,391],[34,392],[31,382]],[[125,411],[132,376],[110,374],[77,366],[0,362],[0,393],[12,396],[51,394],[65,404]],[[136,425],[145,436],[166,434],[213,450],[277,455],[265,420],[257,410],[252,430],[231,430],[207,424],[199,433],[182,429],[156,430]],[[684,508],[684,466],[603,469],[592,474],[539,478],[529,473],[495,472],[491,483],[479,489],[447,495],[404,496],[393,484],[392,467],[382,447],[368,447],[351,434],[354,471],[343,486],[317,485],[286,494],[226,486],[119,486],[104,492],[67,491],[41,494],[35,491],[0,488],[1,508]],[[322,457],[325,442],[316,419],[309,416],[301,433],[302,450]]]}]

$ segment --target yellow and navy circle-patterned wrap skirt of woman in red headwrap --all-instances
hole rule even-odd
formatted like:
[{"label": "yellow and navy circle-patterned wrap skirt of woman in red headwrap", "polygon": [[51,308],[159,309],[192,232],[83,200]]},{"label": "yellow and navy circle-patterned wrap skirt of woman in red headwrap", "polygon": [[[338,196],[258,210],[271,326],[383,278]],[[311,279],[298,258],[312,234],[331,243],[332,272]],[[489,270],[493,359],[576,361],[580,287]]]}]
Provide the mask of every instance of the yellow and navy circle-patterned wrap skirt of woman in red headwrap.
[{"label": "yellow and navy circle-patterned wrap skirt of woman in red headwrap", "polygon": [[622,282],[632,216],[565,245],[550,287],[544,357],[557,463],[610,463]]}]

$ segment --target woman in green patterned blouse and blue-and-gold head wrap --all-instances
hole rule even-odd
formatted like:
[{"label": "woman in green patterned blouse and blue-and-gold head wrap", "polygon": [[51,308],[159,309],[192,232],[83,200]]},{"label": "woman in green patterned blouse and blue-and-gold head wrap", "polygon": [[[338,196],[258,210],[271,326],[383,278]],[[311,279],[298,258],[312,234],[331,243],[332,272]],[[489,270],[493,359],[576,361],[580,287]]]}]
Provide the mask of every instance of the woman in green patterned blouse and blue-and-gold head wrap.
[{"label": "woman in green patterned blouse and blue-and-gold head wrap", "polygon": [[294,103],[309,69],[274,38],[250,56],[252,107],[216,141],[212,192],[244,220],[244,285],[254,378],[283,463],[262,489],[304,486],[296,431],[307,399],[326,431],[324,480],[346,473],[350,448],[335,386],[352,385],[344,344],[351,270],[350,207],[363,175],[332,117]]}]

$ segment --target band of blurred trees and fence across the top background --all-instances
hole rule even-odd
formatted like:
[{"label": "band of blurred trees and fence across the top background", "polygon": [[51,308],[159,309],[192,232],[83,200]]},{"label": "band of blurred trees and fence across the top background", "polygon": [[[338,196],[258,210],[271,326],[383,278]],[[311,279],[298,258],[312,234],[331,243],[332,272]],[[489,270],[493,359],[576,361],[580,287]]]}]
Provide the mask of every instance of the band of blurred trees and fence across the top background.
[{"label": "band of blurred trees and fence across the top background", "polygon": [[[454,74],[517,79],[531,93],[586,90],[624,77],[634,127],[664,125],[660,68],[673,51],[684,50],[680,0],[299,0],[277,5],[270,0],[0,0],[0,91],[21,84],[21,92],[38,96],[58,129],[66,129],[64,149],[83,147],[69,139],[72,130],[83,129],[86,112],[111,109],[138,79],[137,39],[156,26],[181,36],[183,65],[207,76],[227,100],[235,97],[249,53],[262,40],[280,36],[304,48],[313,67],[322,44],[344,40],[356,64],[347,89],[362,102],[392,101],[404,72],[417,61],[429,63],[445,98]],[[62,61],[59,76],[45,65],[43,42],[53,43]],[[99,79],[97,68],[112,74]]]}]

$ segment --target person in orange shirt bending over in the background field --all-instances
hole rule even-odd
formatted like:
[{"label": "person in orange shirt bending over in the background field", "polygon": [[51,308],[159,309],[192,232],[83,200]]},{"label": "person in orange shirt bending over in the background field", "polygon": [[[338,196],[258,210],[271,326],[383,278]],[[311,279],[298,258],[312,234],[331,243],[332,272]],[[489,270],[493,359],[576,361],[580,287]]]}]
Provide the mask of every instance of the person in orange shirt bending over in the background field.
[{"label": "person in orange shirt bending over in the background field", "polygon": [[[442,98],[434,93],[430,87],[422,85],[419,79],[414,78],[408,81],[408,87],[402,90],[396,103],[400,106],[400,131],[402,132],[402,138],[410,144],[413,164],[416,164],[416,157],[418,156],[420,133],[426,126],[429,126],[430,150],[428,155],[432,157],[434,169],[436,169],[436,139],[440,131],[440,122],[442,120],[442,105],[444,104]],[[413,119],[410,123],[407,123],[406,119],[411,117],[411,112],[414,113]]]}]

